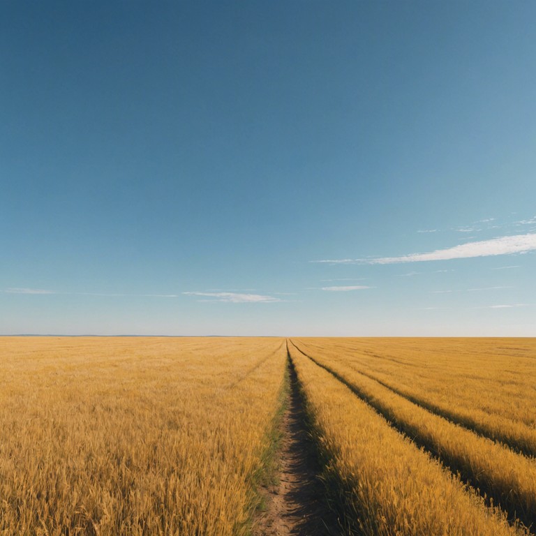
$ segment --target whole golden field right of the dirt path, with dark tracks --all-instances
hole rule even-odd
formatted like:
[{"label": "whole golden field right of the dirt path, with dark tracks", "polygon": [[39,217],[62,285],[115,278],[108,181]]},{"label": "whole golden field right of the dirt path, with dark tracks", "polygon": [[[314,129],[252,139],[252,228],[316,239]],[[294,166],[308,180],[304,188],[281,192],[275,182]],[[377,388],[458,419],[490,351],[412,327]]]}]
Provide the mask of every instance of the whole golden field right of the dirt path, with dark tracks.
[{"label": "whole golden field right of the dirt path, with dark tracks", "polygon": [[329,472],[366,534],[535,523],[536,461],[523,454],[535,339],[302,338],[289,350]]}]

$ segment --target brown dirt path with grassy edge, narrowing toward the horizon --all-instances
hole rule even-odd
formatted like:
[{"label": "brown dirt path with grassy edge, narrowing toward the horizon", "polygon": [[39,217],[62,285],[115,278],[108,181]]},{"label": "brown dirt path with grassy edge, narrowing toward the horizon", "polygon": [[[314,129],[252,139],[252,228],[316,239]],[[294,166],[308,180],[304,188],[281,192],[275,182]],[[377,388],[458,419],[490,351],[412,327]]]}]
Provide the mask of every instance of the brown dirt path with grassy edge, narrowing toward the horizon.
[{"label": "brown dirt path with grassy edge, narrowing toward the horizon", "polygon": [[327,507],[320,467],[308,438],[297,376],[289,366],[290,394],[283,417],[279,483],[267,490],[267,510],[262,512],[255,536],[335,536],[341,530]]}]

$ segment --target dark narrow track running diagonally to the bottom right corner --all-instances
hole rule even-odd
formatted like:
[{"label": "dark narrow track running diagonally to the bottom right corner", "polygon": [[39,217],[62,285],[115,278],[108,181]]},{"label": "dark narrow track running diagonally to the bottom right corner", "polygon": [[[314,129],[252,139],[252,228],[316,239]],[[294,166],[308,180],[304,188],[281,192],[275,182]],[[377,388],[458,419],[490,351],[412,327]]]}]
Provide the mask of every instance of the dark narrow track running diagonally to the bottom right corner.
[{"label": "dark narrow track running diagonally to the bottom right corner", "polygon": [[336,380],[338,380],[338,382],[341,382],[343,385],[348,387],[348,389],[350,389],[350,391],[355,394],[357,398],[364,401],[367,405],[378,412],[378,415],[381,415],[389,423],[389,425],[392,426],[393,429],[405,435],[408,439],[414,442],[417,447],[421,447],[434,459],[440,461],[445,468],[450,470],[456,477],[459,477],[462,482],[468,486],[471,486],[472,489],[474,489],[477,493],[479,493],[480,496],[484,498],[487,505],[489,505],[489,499],[492,498],[493,504],[500,506],[505,512],[507,512],[509,522],[515,523],[515,520],[519,519],[527,528],[529,528],[530,534],[536,535],[536,512],[525,512],[523,510],[520,512],[519,508],[516,508],[515,504],[506,502],[501,496],[498,496],[497,493],[494,493],[494,490],[487,484],[487,482],[478,482],[474,475],[468,471],[460,470],[454,461],[451,463],[449,459],[445,457],[444,453],[438,452],[431,442],[420,438],[418,435],[415,435],[415,433],[412,433],[411,426],[405,426],[403,422],[399,421],[399,419],[396,419],[396,417],[393,417],[389,410],[386,410],[385,408],[382,408],[381,405],[374,403],[369,396],[362,393],[358,387],[352,384],[352,382],[343,378],[343,376],[332,370],[332,368],[329,366],[318,362],[314,357],[306,354],[306,352],[298,348],[298,346],[295,345],[292,340],[290,340],[290,344],[292,344],[292,346],[294,346],[294,348],[300,352],[301,355],[304,355],[307,359],[311,360],[311,362],[313,362],[316,366],[319,366],[320,368],[323,368],[325,371],[329,372]]}]

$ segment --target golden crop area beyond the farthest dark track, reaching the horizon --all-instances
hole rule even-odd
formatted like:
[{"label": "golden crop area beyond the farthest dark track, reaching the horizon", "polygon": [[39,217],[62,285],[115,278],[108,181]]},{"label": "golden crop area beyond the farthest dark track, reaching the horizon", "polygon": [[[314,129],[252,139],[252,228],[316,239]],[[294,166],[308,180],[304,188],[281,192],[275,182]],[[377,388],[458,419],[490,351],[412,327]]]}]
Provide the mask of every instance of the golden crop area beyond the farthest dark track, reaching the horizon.
[{"label": "golden crop area beyond the farthest dark track, reaching the horizon", "polygon": [[535,341],[322,339],[304,348],[344,359],[452,422],[536,455]]}]

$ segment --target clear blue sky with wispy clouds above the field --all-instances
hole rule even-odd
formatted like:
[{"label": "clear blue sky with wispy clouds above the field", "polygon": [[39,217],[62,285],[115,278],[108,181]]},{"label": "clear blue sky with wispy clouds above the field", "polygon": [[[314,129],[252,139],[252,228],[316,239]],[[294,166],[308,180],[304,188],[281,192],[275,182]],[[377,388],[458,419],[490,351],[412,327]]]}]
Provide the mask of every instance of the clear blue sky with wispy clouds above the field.
[{"label": "clear blue sky with wispy clouds above the field", "polygon": [[0,5],[0,333],[536,334],[533,1]]}]

